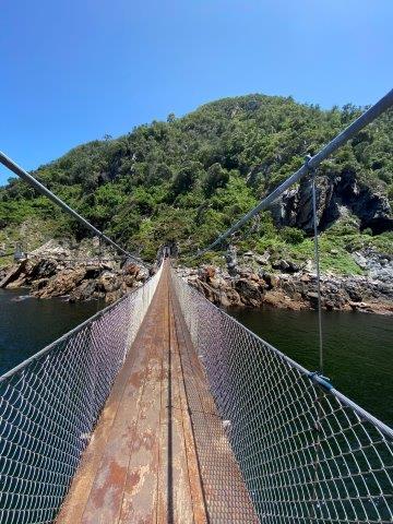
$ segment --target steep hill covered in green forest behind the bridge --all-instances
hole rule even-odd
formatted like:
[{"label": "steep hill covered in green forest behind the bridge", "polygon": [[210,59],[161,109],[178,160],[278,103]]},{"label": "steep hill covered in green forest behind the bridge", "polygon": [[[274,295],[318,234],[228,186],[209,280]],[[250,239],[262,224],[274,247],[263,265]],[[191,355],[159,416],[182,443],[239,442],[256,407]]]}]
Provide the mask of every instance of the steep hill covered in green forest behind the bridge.
[{"label": "steep hill covered in green forest behind the bridge", "polygon": [[[193,252],[362,109],[347,105],[322,110],[290,97],[263,95],[225,98],[182,118],[169,115],[166,122],[75,147],[34,176],[144,258],[153,259],[166,241],[179,242],[182,253]],[[345,271],[346,253],[361,247],[392,252],[392,115],[369,126],[319,170],[325,266]],[[0,249],[15,239],[34,243],[45,240],[43,235],[85,234],[20,180],[0,189]],[[240,251],[267,249],[305,259],[312,249],[309,230],[309,189],[303,183],[236,241]],[[330,257],[333,246],[336,255]]]}]

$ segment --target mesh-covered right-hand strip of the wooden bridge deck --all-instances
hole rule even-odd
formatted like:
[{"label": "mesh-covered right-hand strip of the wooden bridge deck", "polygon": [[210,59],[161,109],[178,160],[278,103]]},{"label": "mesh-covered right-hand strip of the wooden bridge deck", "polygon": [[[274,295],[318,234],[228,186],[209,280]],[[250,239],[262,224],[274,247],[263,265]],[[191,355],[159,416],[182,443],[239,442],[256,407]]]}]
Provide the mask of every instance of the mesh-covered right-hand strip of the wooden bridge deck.
[{"label": "mesh-covered right-hand strip of the wooden bridge deck", "polygon": [[257,523],[259,521],[175,297],[172,303],[183,384],[209,522]]}]

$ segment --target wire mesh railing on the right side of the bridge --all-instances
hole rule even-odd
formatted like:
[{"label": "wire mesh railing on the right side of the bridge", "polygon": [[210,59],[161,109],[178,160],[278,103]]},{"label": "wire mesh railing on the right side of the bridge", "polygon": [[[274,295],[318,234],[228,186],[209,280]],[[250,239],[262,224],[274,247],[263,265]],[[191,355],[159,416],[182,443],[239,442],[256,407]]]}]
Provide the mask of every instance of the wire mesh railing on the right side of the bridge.
[{"label": "wire mesh railing on the right side of the bridge", "polygon": [[260,521],[391,523],[393,431],[171,274]]}]

